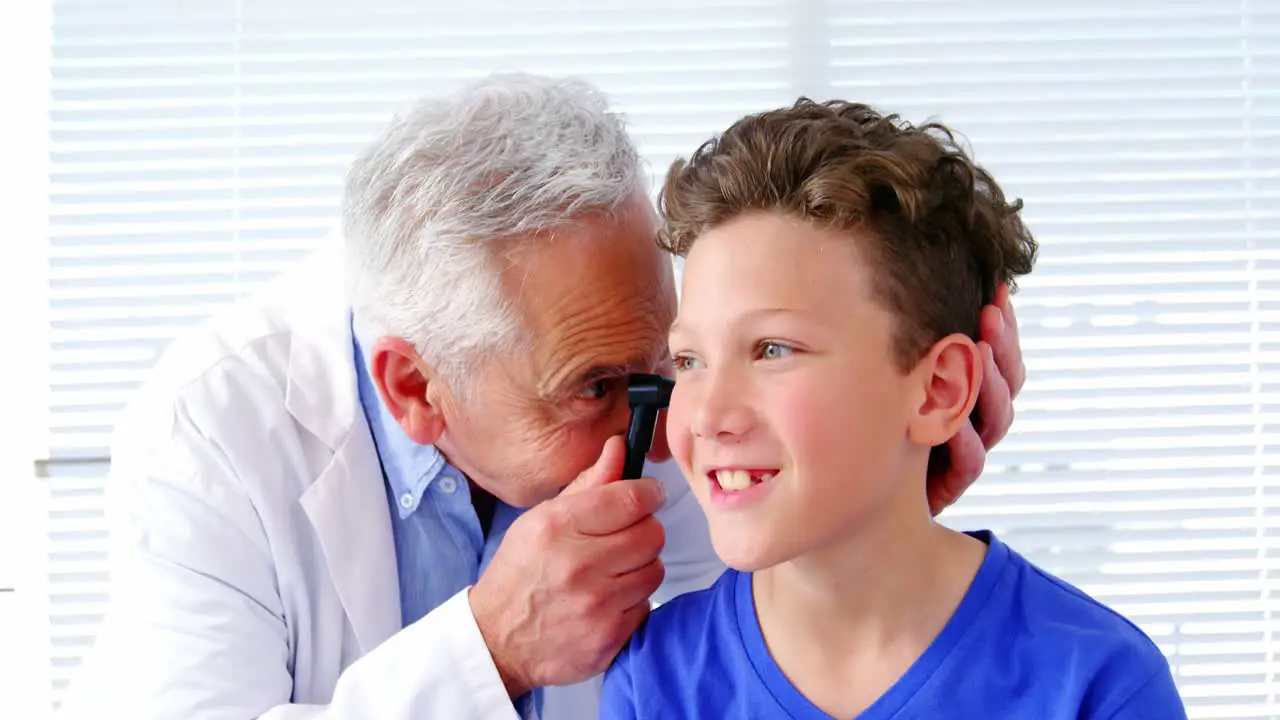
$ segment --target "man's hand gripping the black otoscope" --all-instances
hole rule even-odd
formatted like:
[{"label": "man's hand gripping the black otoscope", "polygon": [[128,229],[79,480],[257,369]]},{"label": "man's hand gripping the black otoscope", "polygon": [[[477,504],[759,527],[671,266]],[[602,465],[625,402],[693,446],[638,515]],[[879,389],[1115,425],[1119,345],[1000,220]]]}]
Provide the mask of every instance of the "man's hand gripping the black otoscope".
[{"label": "man's hand gripping the black otoscope", "polygon": [[507,530],[471,588],[471,610],[512,698],[603,673],[649,614],[666,536],[662,484],[620,480],[612,437],[564,491]]}]

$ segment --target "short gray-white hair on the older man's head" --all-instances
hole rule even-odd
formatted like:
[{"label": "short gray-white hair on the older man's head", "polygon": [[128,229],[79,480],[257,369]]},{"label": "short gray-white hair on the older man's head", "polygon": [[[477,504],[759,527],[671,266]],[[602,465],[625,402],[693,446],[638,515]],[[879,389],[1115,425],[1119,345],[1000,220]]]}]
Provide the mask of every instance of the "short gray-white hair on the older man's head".
[{"label": "short gray-white hair on the older man's head", "polygon": [[612,213],[643,178],[622,119],[584,81],[495,74],[419,100],[347,174],[352,309],[466,384],[483,354],[521,334],[518,307],[502,291],[498,241]]}]

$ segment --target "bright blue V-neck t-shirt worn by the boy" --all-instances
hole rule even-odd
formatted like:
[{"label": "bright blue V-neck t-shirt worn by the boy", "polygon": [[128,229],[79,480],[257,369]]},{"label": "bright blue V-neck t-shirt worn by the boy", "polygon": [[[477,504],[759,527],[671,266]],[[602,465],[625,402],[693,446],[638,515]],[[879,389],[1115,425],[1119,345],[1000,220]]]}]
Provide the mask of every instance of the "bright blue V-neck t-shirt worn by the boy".
[{"label": "bright blue V-neck t-shirt worn by the boy", "polygon": [[[1184,720],[1169,662],[1137,626],[989,532],[946,626],[858,720]],[[751,575],[655,610],[604,680],[602,720],[832,720],[773,662]]]}]

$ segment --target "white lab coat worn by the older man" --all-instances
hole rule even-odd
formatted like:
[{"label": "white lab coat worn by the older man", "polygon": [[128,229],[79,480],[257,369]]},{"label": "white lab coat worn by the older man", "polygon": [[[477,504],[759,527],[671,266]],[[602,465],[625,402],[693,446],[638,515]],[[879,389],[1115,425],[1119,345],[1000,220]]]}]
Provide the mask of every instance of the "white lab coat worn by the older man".
[{"label": "white lab coat worn by the older man", "polygon": [[[342,288],[323,250],[175,342],[122,419],[111,606],[61,717],[516,717],[466,592],[399,629]],[[648,473],[664,601],[723,566],[678,469]],[[549,688],[543,716],[594,719],[599,680]]]}]

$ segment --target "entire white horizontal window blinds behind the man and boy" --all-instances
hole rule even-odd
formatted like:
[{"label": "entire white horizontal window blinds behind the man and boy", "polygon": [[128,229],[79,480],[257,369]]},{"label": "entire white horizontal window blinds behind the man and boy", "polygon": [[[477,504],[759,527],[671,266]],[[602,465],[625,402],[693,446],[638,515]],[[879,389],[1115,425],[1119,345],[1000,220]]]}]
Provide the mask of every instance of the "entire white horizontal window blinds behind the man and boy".
[{"label": "entire white horizontal window blinds behind the man and boy", "polygon": [[312,247],[394,109],[573,73],[654,173],[797,94],[960,128],[1027,200],[1029,382],[945,516],[1130,616],[1193,717],[1280,717],[1280,3],[54,0],[50,702],[109,592],[116,413]]}]

